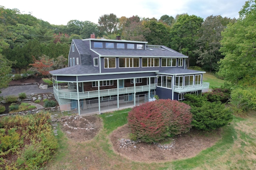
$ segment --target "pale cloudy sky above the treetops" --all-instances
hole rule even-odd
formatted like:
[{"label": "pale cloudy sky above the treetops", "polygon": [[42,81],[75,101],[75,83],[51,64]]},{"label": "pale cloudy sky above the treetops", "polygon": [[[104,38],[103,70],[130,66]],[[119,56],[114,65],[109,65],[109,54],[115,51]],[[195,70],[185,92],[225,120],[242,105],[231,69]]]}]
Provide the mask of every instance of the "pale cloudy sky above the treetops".
[{"label": "pale cloudy sky above the treetops", "polygon": [[160,19],[163,15],[188,13],[206,19],[208,16],[238,18],[246,0],[4,0],[0,6],[17,8],[22,14],[55,25],[66,25],[70,20],[98,23],[100,16],[115,14],[118,18],[138,15],[141,18]]}]

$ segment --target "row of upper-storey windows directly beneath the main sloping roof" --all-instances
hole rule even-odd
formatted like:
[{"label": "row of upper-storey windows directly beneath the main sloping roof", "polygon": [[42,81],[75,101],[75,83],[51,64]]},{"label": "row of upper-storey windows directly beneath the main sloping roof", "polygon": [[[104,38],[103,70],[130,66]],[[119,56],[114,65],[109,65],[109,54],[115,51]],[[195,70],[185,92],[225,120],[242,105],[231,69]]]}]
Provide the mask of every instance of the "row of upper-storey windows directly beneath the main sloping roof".
[{"label": "row of upper-storey windows directly beneath the main sloping roof", "polygon": [[[177,59],[162,58],[162,66],[176,66]],[[98,58],[94,58],[94,66],[98,66]],[[139,58],[119,58],[119,68],[139,67]],[[183,59],[178,59],[178,66],[183,66]],[[159,67],[159,58],[142,58],[142,67]],[[105,57],[104,68],[116,68],[116,58]]]}]

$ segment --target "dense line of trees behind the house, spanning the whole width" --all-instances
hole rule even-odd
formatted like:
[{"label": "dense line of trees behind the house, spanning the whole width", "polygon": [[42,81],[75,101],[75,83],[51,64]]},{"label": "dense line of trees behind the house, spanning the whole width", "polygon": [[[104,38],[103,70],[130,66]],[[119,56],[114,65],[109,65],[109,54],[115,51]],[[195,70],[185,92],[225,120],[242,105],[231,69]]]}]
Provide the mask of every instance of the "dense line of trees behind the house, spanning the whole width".
[{"label": "dense line of trees behind the house, spanning the whole width", "polygon": [[[248,75],[240,73],[234,76],[226,72],[234,64],[229,62],[230,58],[240,56],[241,61],[237,60],[235,63],[236,66],[242,66],[241,63],[246,64],[246,60],[242,59],[248,55],[247,50],[252,53],[250,59],[255,55],[255,51],[251,50],[255,48],[251,45],[255,44],[255,39],[252,39],[255,37],[254,11],[255,0],[250,0],[240,11],[240,18],[237,20],[222,16],[203,19],[188,14],[178,14],[175,17],[164,15],[159,20],[139,16],[117,18],[115,14],[104,14],[99,17],[97,24],[71,20],[67,25],[52,25],[31,14],[21,14],[18,9],[0,6],[0,53],[6,59],[16,61],[12,68],[16,72],[22,72],[30,68],[32,57],[38,59],[46,55],[54,60],[60,56],[67,58],[72,39],[90,38],[91,33],[95,33],[98,38],[108,39],[115,39],[120,35],[126,40],[166,45],[187,55],[188,67],[200,66],[210,72],[218,72],[220,68],[220,76],[237,80],[253,75],[255,70],[255,61],[252,61],[247,64]],[[241,29],[244,30],[243,33],[239,32]],[[234,51],[238,45],[240,51]],[[244,65],[242,67],[244,69]]]}]

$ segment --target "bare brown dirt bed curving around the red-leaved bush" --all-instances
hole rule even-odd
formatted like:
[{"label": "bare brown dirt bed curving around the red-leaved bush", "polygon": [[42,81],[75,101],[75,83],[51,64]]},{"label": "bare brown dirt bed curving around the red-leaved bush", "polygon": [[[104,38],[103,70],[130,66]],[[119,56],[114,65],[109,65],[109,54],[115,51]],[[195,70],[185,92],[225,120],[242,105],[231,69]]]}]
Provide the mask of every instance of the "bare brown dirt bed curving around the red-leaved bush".
[{"label": "bare brown dirt bed curving around the red-leaved bush", "polygon": [[200,151],[207,149],[218,141],[220,131],[214,133],[199,133],[199,131],[192,129],[189,133],[178,135],[174,137],[172,143],[174,144],[170,150],[161,149],[155,144],[137,143],[134,145],[121,148],[120,139],[128,138],[128,125],[119,127],[110,135],[110,140],[113,143],[115,152],[125,156],[134,161],[143,162],[163,162],[170,160],[177,160],[183,158],[191,158],[196,156]]}]

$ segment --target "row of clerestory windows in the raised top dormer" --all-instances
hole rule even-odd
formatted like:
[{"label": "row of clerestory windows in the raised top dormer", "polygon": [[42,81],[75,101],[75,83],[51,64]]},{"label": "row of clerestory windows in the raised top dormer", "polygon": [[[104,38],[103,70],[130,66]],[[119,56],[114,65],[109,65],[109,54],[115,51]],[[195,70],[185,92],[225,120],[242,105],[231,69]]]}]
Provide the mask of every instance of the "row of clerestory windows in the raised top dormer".
[{"label": "row of clerestory windows in the raised top dormer", "polygon": [[[94,48],[103,48],[103,43],[102,42],[94,42],[93,43]],[[126,48],[127,49],[143,49],[143,44],[130,44],[126,43]],[[116,48],[117,49],[125,49],[125,44],[124,43],[116,43]],[[106,43],[106,49],[114,49],[114,43]]]}]

